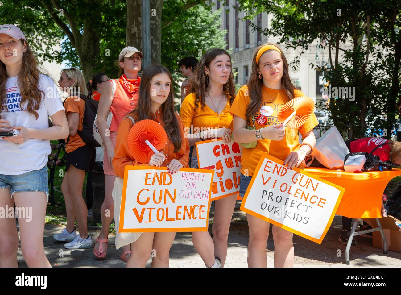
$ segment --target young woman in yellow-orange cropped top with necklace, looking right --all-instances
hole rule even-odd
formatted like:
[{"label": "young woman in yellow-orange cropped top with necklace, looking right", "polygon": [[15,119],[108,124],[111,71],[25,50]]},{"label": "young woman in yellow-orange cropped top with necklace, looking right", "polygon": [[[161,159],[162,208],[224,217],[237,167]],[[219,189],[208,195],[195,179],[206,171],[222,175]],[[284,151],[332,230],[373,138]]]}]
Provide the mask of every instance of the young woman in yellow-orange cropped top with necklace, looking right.
[{"label": "young woman in yellow-orange cropped top with necklace, looking right", "polygon": [[[231,141],[233,117],[230,106],[235,96],[231,57],[223,49],[211,49],[203,55],[195,68],[190,94],[180,109],[190,146],[211,138]],[[195,132],[199,129],[199,132]],[[196,149],[191,168],[198,168]],[[237,195],[215,201],[213,239],[209,232],[192,232],[192,242],[207,267],[223,267],[227,256],[228,233]]]}]

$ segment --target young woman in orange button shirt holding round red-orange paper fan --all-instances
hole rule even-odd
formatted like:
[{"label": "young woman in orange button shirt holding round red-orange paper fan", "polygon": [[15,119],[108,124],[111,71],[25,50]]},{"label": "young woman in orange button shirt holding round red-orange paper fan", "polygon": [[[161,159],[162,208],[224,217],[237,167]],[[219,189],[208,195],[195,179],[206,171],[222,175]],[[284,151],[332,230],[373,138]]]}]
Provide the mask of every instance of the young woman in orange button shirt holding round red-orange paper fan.
[{"label": "young woman in orange button shirt holding round red-orange paper fan", "polygon": [[[184,136],[184,126],[178,115],[174,113],[174,92],[171,87],[170,71],[162,65],[150,65],[142,74],[139,90],[138,107],[125,117],[117,131],[113,168],[118,178],[124,178],[127,165],[145,165],[168,167],[173,174],[182,167],[188,167],[189,146]],[[128,149],[127,137],[134,122],[150,119],[161,124],[166,130],[168,140],[160,153],[152,155],[149,163],[138,162]],[[113,192],[114,194],[114,192]],[[121,194],[118,194],[121,197]],[[117,196],[115,196],[117,197]],[[152,258],[152,267],[168,267],[169,252],[176,232],[144,232],[131,243],[132,254],[128,258],[127,267],[145,267],[152,250],[156,255]]]}]

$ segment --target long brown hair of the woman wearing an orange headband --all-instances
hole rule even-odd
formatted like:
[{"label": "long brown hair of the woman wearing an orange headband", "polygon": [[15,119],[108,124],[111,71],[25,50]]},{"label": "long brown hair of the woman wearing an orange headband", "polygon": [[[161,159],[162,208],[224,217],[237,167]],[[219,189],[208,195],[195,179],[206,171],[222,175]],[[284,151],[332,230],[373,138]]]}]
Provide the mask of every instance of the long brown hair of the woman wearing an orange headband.
[{"label": "long brown hair of the woman wearing an orange headband", "polygon": [[[283,65],[284,65],[284,73],[283,73],[283,77],[281,78],[281,83],[284,86],[284,90],[286,91],[288,98],[290,100],[292,100],[295,97],[294,89],[296,87],[291,82],[290,74],[288,71],[288,62],[287,62],[286,56],[284,55],[282,49],[277,44],[274,44],[274,43],[266,43],[266,44],[260,45],[259,47],[257,47],[255,53],[253,54],[252,62],[251,62],[251,73],[249,75],[249,79],[246,84],[248,86],[248,92],[249,92],[249,96],[251,98],[251,103],[249,104],[249,106],[247,107],[247,111],[245,112],[245,117],[247,118],[247,121],[249,124],[251,124],[252,116],[258,112],[258,110],[262,104],[263,79],[259,79],[259,77],[258,77],[259,74],[257,73],[257,69],[259,68],[259,65],[256,64],[256,55],[257,55],[257,52],[259,51],[259,49],[261,49],[263,46],[268,45],[268,44],[274,45],[280,49],[280,51],[281,51],[280,56],[281,56],[281,59],[283,61]],[[274,49],[269,49],[269,50],[265,51],[263,54],[265,54],[266,52],[269,52],[271,50],[274,50]]]}]

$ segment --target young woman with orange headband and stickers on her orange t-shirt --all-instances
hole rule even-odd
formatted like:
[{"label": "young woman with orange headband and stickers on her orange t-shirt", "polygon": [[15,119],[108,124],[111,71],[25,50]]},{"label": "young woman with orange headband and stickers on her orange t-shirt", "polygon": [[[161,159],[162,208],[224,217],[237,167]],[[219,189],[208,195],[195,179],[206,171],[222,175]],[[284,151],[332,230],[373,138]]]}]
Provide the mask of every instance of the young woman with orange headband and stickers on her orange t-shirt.
[{"label": "young woman with orange headband and stickers on her orange t-shirt", "polygon": [[[304,94],[296,90],[292,84],[287,59],[282,50],[273,44],[259,46],[253,55],[248,83],[239,89],[230,110],[234,115],[234,140],[243,144],[257,141],[254,148],[244,148],[242,151],[239,186],[242,197],[263,153],[283,160],[284,165],[287,164],[289,169],[293,169],[301,165],[315,145],[313,128],[318,124],[318,120],[314,115],[298,130],[287,127],[284,129],[277,121],[278,110],[286,102],[298,96]],[[256,130],[247,129],[247,125],[255,126]],[[298,132],[302,135],[302,144],[299,144]],[[247,221],[248,266],[266,267],[266,245],[270,224],[249,214]],[[273,239],[274,266],[292,267],[294,265],[292,232],[273,225]]]}]

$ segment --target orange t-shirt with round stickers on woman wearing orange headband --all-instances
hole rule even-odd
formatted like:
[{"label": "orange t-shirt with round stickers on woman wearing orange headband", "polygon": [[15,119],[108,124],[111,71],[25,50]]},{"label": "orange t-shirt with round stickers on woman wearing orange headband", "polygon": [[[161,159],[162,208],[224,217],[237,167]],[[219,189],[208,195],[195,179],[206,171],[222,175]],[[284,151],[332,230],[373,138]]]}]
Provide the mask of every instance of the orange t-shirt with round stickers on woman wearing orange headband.
[{"label": "orange t-shirt with round stickers on woman wearing orange headband", "polygon": [[[245,96],[245,94],[248,93],[247,89],[247,85],[244,85],[239,89],[230,110],[233,115],[238,116],[244,120],[246,120],[245,112],[247,110],[247,107],[251,103],[249,95]],[[295,97],[305,96],[300,90],[294,90],[294,95]],[[270,102],[269,99],[275,100],[273,102]],[[279,121],[277,120],[277,112],[284,106],[284,104],[290,101],[286,94],[286,91],[284,89],[275,90],[262,86],[262,100],[263,102],[261,106],[270,106],[273,109],[273,114],[266,117],[267,126],[278,124]],[[255,119],[259,115],[260,108],[259,111],[254,115]],[[312,130],[318,124],[319,122],[316,119],[316,116],[312,114],[308,121],[306,121],[305,124],[298,129],[290,129],[288,127],[285,127],[286,136],[284,136],[282,140],[257,140],[255,137],[255,140],[257,140],[255,148],[244,148],[242,150],[241,173],[245,174],[245,171],[247,169],[248,175],[253,175],[257,163],[259,163],[259,160],[263,153],[268,153],[269,155],[272,155],[273,157],[284,161],[292,151],[296,151],[300,146],[298,132],[300,134],[305,134],[306,132]],[[255,120],[255,127],[256,129],[260,129],[265,127],[265,125],[261,126],[257,124]]]}]

